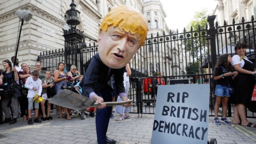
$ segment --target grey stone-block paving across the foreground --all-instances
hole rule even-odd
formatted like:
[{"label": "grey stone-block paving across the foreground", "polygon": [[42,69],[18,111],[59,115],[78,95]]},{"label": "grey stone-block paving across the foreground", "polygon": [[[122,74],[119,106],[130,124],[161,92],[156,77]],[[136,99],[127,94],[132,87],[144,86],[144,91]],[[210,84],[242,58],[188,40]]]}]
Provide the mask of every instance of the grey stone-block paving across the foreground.
[{"label": "grey stone-block paving across the foreground", "polygon": [[[87,116],[82,120],[80,116],[73,116],[71,120],[58,119],[51,113],[53,120],[40,124],[28,125],[19,118],[13,125],[0,125],[0,143],[19,144],[97,144],[95,131],[95,117]],[[151,141],[154,115],[131,114],[131,119],[115,121],[110,119],[108,136],[117,140],[117,144],[149,144]],[[141,116],[141,115],[140,115]],[[228,118],[231,119],[232,118]],[[256,119],[249,119],[256,124]],[[255,144],[256,128],[240,125],[215,125],[213,117],[209,117],[208,139],[216,138],[218,144]],[[171,141],[170,141],[171,143]]]}]

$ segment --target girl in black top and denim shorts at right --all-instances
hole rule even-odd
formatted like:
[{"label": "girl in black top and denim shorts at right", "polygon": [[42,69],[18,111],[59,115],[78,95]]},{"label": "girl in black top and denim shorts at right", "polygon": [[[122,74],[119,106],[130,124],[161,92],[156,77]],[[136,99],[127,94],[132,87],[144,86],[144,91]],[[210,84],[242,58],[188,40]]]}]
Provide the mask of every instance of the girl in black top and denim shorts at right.
[{"label": "girl in black top and denim shorts at right", "polygon": [[[234,71],[234,68],[231,65],[231,56],[229,54],[222,54],[218,58],[218,61],[214,70],[213,79],[216,81],[216,102],[214,105],[214,123],[216,125],[220,125],[220,121],[224,124],[231,125],[231,122],[226,118],[227,110],[228,110],[228,98],[229,94],[229,86],[232,86],[232,80],[238,75],[238,72]],[[222,102],[222,118],[219,121],[218,113],[220,104]]]}]

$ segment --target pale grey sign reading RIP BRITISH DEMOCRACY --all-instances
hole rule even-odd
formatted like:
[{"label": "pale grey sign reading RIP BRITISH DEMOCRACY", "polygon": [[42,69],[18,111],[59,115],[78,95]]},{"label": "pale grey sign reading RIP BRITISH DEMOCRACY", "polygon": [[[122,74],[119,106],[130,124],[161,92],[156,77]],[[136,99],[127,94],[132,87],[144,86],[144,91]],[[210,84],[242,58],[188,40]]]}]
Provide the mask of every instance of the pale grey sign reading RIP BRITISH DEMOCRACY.
[{"label": "pale grey sign reading RIP BRITISH DEMOCRACY", "polygon": [[159,85],[151,144],[207,144],[209,84]]}]

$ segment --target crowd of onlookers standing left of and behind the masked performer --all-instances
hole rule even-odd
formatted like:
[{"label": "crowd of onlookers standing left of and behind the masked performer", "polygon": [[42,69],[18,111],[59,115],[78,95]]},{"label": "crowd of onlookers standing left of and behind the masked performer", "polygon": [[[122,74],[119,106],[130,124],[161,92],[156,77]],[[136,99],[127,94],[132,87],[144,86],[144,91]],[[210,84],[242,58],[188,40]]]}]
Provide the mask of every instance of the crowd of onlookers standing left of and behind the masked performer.
[{"label": "crowd of onlookers standing left of and behind the masked performer", "polygon": [[[50,70],[42,70],[40,62],[35,63],[36,70],[31,72],[26,63],[19,64],[19,59],[16,59],[16,61],[14,59],[15,57],[13,56],[11,58],[12,62],[4,60],[4,70],[0,71],[0,124],[14,124],[19,117],[22,117],[22,121],[28,122],[29,125],[32,125],[33,122],[41,123],[41,121],[52,120],[53,118],[50,116],[50,113],[52,113],[54,106],[50,103],[50,99],[54,95],[61,92],[63,88],[68,87],[75,88],[82,94],[82,88],[79,83],[84,76],[80,75],[75,65],[71,65],[70,71],[67,71],[65,63],[59,62],[57,69],[52,75]],[[13,67],[13,65],[15,66]],[[130,75],[131,69],[127,64],[124,72],[126,95],[130,85]],[[13,94],[11,90],[14,85],[13,83],[19,85],[20,95]],[[114,89],[113,101],[116,100],[119,101],[120,97],[118,97],[117,91]],[[68,108],[57,105],[55,107],[59,118],[70,120],[70,115],[74,114]],[[124,109],[123,106],[116,107],[117,113],[120,114],[116,121],[129,119],[129,110],[129,108]],[[85,111],[90,112],[89,116],[91,117],[94,117],[96,114],[96,108],[89,107]],[[33,120],[31,115],[35,115]],[[111,118],[114,118],[113,114]]]}]

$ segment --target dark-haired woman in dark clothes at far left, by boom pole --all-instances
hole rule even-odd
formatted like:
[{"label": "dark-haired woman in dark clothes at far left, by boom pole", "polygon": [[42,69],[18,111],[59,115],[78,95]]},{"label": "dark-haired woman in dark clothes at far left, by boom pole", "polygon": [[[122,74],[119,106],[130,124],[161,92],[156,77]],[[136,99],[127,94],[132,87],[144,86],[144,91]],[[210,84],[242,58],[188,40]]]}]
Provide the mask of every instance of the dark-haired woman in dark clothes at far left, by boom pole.
[{"label": "dark-haired woman in dark clothes at far left, by boom pole", "polygon": [[[4,89],[4,95],[1,97],[2,109],[5,113],[5,119],[3,123],[9,122],[9,124],[14,124],[17,122],[18,118],[18,97],[12,97],[12,94],[10,93],[10,85],[13,82],[12,71],[14,72],[14,83],[18,81],[18,73],[16,68],[12,68],[12,63],[9,60],[4,60],[3,66],[5,71],[0,75],[0,85],[3,85]],[[11,118],[9,108],[7,106],[10,100],[12,103],[13,119]]]}]

